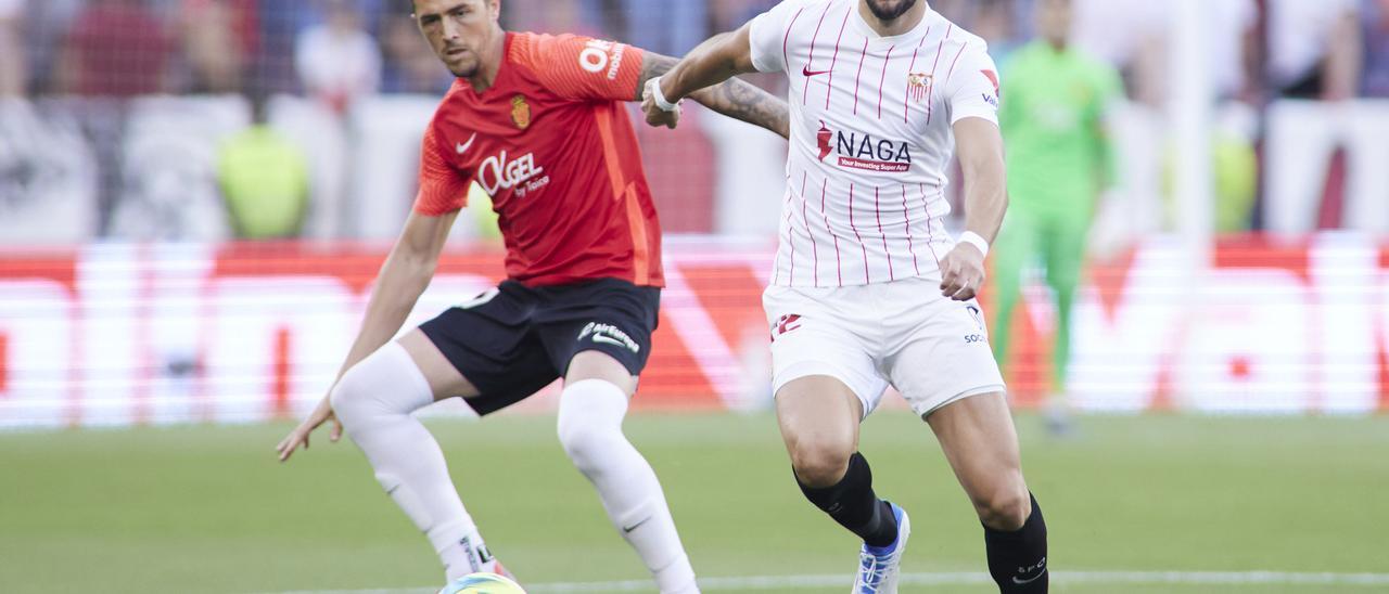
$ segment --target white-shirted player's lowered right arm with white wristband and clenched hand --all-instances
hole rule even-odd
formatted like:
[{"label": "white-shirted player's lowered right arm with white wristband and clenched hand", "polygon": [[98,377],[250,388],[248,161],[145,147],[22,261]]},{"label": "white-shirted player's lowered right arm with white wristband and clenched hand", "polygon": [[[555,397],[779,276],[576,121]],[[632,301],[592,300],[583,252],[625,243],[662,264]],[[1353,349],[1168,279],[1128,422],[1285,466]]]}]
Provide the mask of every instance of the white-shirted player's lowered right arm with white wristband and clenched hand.
[{"label": "white-shirted player's lowered right arm with white wristband and clenched hand", "polygon": [[968,301],[983,286],[983,257],[1003,225],[1008,190],[999,126],[983,118],[964,118],[956,122],[954,133],[964,178],[965,233],[940,260],[940,293]]}]

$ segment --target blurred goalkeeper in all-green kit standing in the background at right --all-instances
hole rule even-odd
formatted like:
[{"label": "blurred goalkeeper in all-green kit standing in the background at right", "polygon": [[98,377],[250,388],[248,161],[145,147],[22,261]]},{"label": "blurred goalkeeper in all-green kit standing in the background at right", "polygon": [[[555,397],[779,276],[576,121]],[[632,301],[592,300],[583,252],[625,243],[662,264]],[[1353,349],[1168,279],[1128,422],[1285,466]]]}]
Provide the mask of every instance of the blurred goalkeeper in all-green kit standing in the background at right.
[{"label": "blurred goalkeeper in all-green kit standing in the background at right", "polygon": [[[1070,46],[1071,0],[1038,0],[1038,39],[1003,64],[999,124],[1008,151],[1008,215],[993,251],[993,353],[1007,365],[1022,271],[1039,258],[1056,297],[1053,393],[1065,393],[1071,305],[1096,203],[1113,179],[1104,119],[1118,74]],[[1053,429],[1065,430],[1053,401]]]}]

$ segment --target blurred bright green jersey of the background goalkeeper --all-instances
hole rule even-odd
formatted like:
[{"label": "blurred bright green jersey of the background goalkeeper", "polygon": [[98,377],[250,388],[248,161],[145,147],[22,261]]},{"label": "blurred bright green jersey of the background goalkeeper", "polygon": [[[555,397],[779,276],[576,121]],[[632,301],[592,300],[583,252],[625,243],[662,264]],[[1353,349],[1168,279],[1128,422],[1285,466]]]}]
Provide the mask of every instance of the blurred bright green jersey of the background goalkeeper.
[{"label": "blurred bright green jersey of the background goalkeeper", "polygon": [[1118,72],[1046,42],[1020,49],[1001,69],[1011,205],[1089,217],[1113,180],[1104,118],[1122,94]]}]

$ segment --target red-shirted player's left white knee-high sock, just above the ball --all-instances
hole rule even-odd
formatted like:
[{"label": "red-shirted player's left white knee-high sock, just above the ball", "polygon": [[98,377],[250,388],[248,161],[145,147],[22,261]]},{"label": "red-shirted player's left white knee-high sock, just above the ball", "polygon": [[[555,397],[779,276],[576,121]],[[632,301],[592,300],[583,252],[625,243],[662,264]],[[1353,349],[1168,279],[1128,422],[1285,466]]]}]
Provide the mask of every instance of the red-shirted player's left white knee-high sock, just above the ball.
[{"label": "red-shirted player's left white knee-high sock, just above the ball", "polygon": [[376,480],[429,537],[451,582],[492,572],[496,561],[464,509],[439,443],[410,414],[433,402],[424,373],[397,343],[354,365],[332,393],[333,412],[376,472]]}]

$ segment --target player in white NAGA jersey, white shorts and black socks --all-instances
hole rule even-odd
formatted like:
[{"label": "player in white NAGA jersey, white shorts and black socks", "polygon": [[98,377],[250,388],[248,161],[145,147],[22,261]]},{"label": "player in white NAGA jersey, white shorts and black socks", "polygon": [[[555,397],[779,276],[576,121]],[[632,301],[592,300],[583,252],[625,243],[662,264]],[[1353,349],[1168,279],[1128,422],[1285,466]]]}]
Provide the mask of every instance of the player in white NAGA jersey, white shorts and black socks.
[{"label": "player in white NAGA jersey, white shorts and black socks", "polygon": [[[776,415],[806,497],[864,540],[853,591],[897,591],[910,533],[857,452],[861,421],[892,384],[974,502],[999,590],[1045,593],[1046,525],[974,300],[1007,208],[985,42],[925,0],[786,0],[650,80],[647,122],[675,126],[682,97],[757,71],[785,72],[792,105],[763,297]],[[951,150],[968,208],[958,241],[942,225]]]}]

